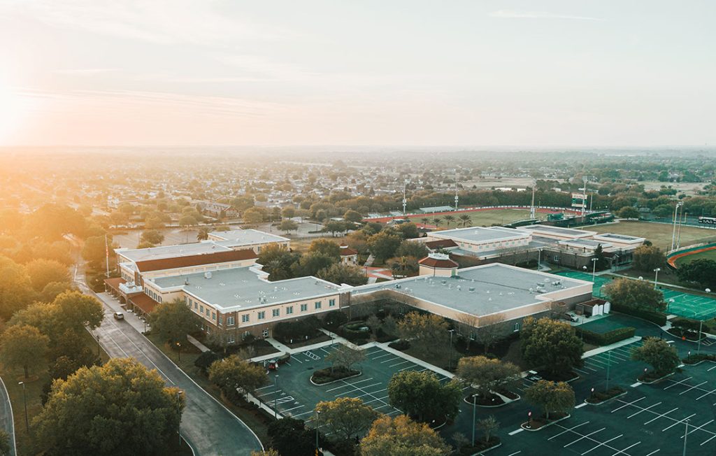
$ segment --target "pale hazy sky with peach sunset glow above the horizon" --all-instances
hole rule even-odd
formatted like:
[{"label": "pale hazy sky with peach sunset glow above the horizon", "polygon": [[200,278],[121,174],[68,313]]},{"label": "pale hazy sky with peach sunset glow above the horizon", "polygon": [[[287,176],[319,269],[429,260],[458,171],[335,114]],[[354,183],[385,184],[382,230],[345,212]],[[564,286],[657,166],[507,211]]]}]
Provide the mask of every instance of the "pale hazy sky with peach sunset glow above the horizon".
[{"label": "pale hazy sky with peach sunset glow above the horizon", "polygon": [[716,1],[0,0],[0,145],[702,145]]}]

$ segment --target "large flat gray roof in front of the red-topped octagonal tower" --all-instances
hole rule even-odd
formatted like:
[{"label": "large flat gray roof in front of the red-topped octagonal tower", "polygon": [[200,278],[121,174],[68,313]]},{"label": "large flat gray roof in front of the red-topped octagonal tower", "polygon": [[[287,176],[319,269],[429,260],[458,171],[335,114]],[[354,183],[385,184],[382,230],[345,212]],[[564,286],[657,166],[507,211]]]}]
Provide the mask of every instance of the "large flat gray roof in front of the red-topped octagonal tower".
[{"label": "large flat gray roof in front of the red-topped octagonal tower", "polygon": [[455,277],[420,276],[359,286],[353,294],[392,290],[483,316],[541,302],[538,294],[585,284],[589,282],[493,263],[460,269]]}]

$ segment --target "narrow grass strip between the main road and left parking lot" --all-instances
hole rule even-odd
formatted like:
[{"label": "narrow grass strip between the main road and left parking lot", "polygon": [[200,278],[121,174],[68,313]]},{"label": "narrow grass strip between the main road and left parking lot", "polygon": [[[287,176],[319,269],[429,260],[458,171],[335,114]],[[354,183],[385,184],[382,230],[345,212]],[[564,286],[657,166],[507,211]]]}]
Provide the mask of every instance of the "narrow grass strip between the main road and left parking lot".
[{"label": "narrow grass strip between the main road and left parking lot", "polygon": [[266,424],[263,422],[263,420],[258,417],[257,412],[255,410],[238,407],[235,404],[232,404],[231,402],[224,399],[221,395],[221,390],[218,389],[215,384],[209,382],[209,379],[205,377],[205,375],[200,371],[200,369],[194,365],[195,360],[201,354],[199,349],[197,349],[192,344],[186,344],[188,346],[182,347],[181,362],[178,362],[177,351],[170,349],[168,344],[165,344],[163,341],[160,341],[157,336],[152,334],[149,334],[147,336],[147,339],[149,339],[155,346],[157,346],[157,348],[160,349],[165,355],[169,356],[169,359],[171,359],[174,364],[177,364],[180,369],[182,369],[189,377],[191,377],[191,379],[194,380],[194,382],[196,382],[196,384],[202,387],[213,397],[218,399],[218,401],[224,404],[226,408],[231,410],[233,414],[236,414],[236,416],[239,417],[241,421],[246,423],[248,427],[251,427],[251,430],[253,430],[253,432],[256,432],[256,435],[261,440],[261,442],[263,442],[264,445],[269,442],[269,436],[266,433],[268,428],[266,427]]}]

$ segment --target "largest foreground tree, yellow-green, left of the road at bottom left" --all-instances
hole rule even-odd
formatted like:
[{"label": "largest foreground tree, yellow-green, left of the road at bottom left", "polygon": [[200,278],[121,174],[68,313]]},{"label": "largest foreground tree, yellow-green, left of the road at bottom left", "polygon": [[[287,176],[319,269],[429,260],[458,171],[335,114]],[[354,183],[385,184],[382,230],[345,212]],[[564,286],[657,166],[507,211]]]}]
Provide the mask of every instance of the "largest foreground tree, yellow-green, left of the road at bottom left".
[{"label": "largest foreground tree, yellow-green, left of the road at bottom left", "polygon": [[113,358],[55,380],[33,424],[52,455],[146,455],[176,432],[183,406],[156,371]]}]

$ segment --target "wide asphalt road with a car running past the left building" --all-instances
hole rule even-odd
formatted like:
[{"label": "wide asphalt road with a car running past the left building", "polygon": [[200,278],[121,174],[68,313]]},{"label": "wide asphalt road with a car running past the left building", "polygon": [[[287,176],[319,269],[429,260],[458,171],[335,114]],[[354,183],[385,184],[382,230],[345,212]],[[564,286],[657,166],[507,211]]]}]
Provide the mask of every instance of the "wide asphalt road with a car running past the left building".
[{"label": "wide asphalt road with a car running past the left building", "polygon": [[183,390],[185,409],[181,432],[196,455],[248,456],[251,451],[263,449],[258,437],[241,419],[195,384],[130,324],[115,321],[111,305],[118,304],[107,303],[89,290],[81,271],[76,273],[75,281],[85,294],[97,297],[105,306],[105,319],[95,334],[100,336],[100,345],[107,354],[135,358],[147,368],[159,372],[168,385]]}]

